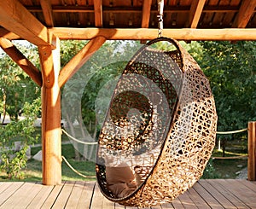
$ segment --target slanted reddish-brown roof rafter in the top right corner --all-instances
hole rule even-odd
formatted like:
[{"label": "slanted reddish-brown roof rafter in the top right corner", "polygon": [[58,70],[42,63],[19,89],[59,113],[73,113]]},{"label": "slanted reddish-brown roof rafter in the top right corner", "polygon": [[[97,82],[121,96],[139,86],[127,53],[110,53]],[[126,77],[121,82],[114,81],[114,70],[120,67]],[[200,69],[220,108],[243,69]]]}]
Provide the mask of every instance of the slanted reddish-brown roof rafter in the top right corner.
[{"label": "slanted reddish-brown roof rafter in the top right corner", "polygon": [[245,28],[251,19],[255,8],[256,0],[243,0],[232,27]]}]

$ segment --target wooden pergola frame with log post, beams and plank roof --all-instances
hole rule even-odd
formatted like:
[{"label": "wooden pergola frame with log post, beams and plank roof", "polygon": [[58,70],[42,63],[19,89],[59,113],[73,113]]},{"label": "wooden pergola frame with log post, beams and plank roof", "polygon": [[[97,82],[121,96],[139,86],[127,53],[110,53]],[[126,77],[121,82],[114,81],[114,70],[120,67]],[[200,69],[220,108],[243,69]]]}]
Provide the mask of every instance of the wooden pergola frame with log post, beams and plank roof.
[{"label": "wooden pergola frame with log post, beams and plank roof", "polygon": [[[256,40],[256,0],[165,0],[164,4],[165,37]],[[61,183],[61,87],[106,40],[156,38],[157,15],[157,0],[0,1],[0,46],[42,88],[44,184]],[[41,69],[12,44],[15,39],[38,46]],[[61,69],[62,39],[90,42]],[[255,127],[253,123],[254,132]],[[251,163],[255,180],[255,159]]]}]

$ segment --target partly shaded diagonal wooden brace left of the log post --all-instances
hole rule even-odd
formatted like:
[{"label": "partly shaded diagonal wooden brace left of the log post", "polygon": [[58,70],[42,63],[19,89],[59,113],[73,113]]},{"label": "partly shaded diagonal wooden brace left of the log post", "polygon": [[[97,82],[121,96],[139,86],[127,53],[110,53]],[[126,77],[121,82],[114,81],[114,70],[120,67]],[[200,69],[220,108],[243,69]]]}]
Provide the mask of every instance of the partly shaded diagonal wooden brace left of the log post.
[{"label": "partly shaded diagonal wooden brace left of the log post", "polygon": [[29,75],[32,80],[42,86],[42,75],[41,72],[35,67],[31,61],[27,60],[26,56],[23,55],[19,49],[15,47],[8,39],[0,38],[0,46],[9,57],[17,63],[20,68]]}]

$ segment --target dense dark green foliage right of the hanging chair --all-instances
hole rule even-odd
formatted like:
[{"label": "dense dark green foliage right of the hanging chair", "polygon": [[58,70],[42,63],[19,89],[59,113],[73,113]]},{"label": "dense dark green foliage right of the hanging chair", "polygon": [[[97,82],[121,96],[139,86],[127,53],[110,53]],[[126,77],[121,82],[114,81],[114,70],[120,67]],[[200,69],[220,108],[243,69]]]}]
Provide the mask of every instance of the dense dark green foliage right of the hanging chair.
[{"label": "dense dark green foliage right of the hanging chair", "polygon": [[247,127],[256,119],[256,43],[200,42],[189,52],[210,80],[218,131]]}]

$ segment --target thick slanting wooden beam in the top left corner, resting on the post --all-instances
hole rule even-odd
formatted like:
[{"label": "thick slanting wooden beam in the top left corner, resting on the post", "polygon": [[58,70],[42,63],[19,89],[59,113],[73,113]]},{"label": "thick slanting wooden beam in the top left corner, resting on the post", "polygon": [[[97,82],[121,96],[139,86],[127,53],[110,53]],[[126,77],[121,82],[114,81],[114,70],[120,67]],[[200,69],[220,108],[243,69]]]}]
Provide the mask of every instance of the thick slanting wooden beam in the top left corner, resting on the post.
[{"label": "thick slanting wooden beam in the top left corner, resting on the post", "polygon": [[0,1],[0,25],[35,45],[49,45],[47,28],[19,1]]}]

